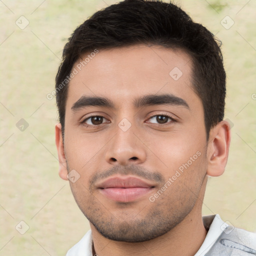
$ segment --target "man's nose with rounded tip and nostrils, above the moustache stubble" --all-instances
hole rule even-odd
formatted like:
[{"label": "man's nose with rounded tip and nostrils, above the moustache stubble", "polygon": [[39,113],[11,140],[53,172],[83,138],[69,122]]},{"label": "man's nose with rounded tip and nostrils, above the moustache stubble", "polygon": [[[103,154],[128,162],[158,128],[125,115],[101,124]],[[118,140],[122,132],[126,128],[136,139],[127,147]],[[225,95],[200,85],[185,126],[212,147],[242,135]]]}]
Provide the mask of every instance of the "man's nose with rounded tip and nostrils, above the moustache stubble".
[{"label": "man's nose with rounded tip and nostrils, above the moustache stubble", "polygon": [[116,133],[107,143],[105,160],[110,164],[138,164],[146,159],[146,151],[144,144],[133,133],[130,127],[123,131],[118,126]]}]

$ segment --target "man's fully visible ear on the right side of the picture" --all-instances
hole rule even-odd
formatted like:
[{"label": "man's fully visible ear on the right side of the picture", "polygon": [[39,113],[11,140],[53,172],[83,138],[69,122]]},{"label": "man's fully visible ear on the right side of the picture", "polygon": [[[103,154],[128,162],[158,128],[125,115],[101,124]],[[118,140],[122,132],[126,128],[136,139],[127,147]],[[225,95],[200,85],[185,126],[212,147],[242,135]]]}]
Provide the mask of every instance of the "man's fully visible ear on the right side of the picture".
[{"label": "man's fully visible ear on the right side of the picture", "polygon": [[224,172],[230,135],[230,125],[227,121],[220,121],[210,130],[207,148],[207,174],[209,176],[219,176]]}]

